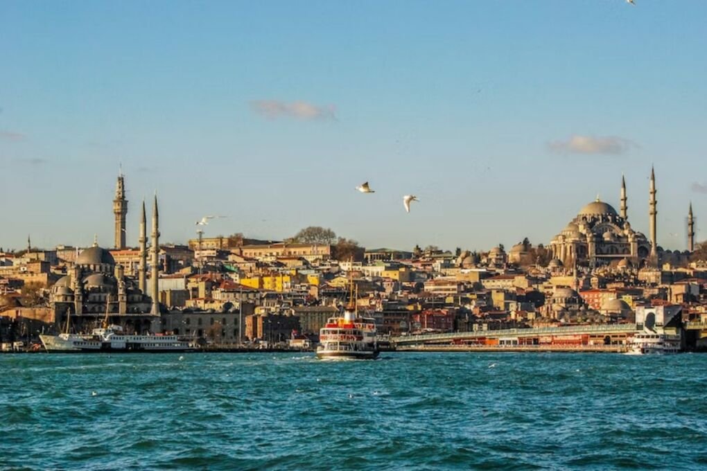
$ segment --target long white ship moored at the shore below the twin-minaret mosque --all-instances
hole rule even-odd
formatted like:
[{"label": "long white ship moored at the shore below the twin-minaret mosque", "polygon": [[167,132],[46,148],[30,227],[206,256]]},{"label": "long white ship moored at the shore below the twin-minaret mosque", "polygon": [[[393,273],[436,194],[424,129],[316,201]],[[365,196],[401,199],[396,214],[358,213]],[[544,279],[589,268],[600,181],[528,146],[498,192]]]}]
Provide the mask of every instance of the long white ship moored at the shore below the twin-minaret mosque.
[{"label": "long white ship moored at the shore below the twin-minaret mosque", "polygon": [[120,326],[93,329],[87,335],[40,335],[47,352],[186,352],[189,341],[177,335],[127,335]]}]

